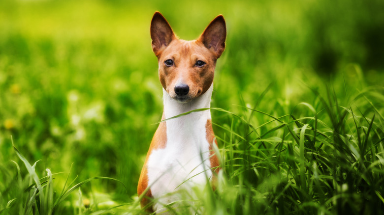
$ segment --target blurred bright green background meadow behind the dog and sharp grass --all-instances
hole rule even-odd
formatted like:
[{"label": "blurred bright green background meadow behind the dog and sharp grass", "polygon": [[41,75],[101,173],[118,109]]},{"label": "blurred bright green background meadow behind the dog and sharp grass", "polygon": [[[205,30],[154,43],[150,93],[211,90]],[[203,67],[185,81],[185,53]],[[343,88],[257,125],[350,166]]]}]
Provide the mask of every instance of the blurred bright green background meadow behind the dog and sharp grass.
[{"label": "blurred bright green background meadow behind the dog and sharp grass", "polygon": [[[1,189],[18,160],[12,135],[30,162],[41,160],[40,176],[73,163],[79,180],[107,176],[128,189],[97,181],[84,193],[131,201],[162,114],[149,35],[156,10],[187,40],[224,15],[226,50],[211,107],[254,107],[272,83],[258,109],[283,115],[314,101],[309,88],[332,85],[346,101],[343,79],[351,94],[384,86],[383,0],[1,0]],[[230,124],[225,114],[212,115]],[[57,176],[58,187],[65,178]]]}]

